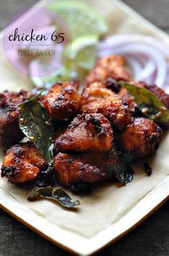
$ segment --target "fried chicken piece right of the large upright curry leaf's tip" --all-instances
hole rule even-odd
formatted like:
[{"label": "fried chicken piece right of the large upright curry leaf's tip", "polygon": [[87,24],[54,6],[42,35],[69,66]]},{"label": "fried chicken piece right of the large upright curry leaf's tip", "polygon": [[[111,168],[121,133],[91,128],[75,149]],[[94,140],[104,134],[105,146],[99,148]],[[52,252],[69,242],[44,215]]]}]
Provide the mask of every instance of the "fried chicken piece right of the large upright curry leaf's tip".
[{"label": "fried chicken piece right of the large upright curry leaf's tip", "polygon": [[78,111],[80,96],[78,82],[57,82],[42,98],[42,104],[49,111],[52,119],[69,119]]}]

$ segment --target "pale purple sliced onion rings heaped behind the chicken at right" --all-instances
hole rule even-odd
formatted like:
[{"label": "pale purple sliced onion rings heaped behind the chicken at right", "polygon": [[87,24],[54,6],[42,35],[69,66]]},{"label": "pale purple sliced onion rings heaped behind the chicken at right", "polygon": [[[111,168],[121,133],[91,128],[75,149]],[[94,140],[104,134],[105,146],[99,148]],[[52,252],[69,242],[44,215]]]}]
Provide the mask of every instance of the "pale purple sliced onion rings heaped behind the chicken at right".
[{"label": "pale purple sliced onion rings heaped behind the chicken at right", "polygon": [[119,54],[127,59],[135,80],[160,88],[169,84],[169,47],[150,36],[111,35],[98,45],[98,55]]}]

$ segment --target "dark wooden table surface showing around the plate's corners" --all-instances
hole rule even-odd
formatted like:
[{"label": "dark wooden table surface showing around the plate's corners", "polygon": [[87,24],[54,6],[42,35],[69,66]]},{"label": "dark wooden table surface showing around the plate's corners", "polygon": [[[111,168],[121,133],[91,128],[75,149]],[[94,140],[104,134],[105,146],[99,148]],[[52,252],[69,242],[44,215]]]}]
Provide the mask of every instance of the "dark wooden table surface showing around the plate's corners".
[{"label": "dark wooden table surface showing around the plate's corners", "polygon": [[[12,15],[35,0],[1,0],[0,29]],[[124,0],[155,25],[169,33],[169,0]],[[147,218],[134,231],[101,251],[99,256],[167,256],[169,255],[169,202]],[[76,242],[76,241],[75,241]],[[65,256],[59,247],[27,229],[0,210],[0,256]]]}]

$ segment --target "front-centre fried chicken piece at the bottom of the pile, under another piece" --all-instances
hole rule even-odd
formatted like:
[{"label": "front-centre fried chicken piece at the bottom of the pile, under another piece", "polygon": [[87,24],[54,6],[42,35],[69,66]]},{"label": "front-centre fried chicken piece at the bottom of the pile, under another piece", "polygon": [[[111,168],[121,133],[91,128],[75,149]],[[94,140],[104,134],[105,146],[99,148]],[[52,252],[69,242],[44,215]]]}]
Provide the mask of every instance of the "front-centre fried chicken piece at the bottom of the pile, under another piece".
[{"label": "front-centre fried chicken piece at the bottom of the pile, under another piece", "polygon": [[118,159],[114,149],[109,153],[83,153],[81,155],[59,153],[55,157],[55,174],[60,184],[66,187],[83,182],[101,182],[115,177],[114,166]]}]

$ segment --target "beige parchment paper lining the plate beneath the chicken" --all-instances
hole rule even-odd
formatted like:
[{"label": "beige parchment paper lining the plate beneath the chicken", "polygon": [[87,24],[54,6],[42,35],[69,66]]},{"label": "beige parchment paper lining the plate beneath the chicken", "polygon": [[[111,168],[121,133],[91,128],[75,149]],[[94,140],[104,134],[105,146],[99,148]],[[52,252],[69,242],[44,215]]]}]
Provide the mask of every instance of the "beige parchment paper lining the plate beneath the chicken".
[{"label": "beige parchment paper lining the plate beneath the chicken", "polygon": [[[47,1],[49,3],[51,1]],[[86,1],[93,5],[100,12],[111,27],[111,33],[140,33],[153,35],[156,38],[165,40],[169,46],[168,37],[164,34],[154,33],[151,27],[142,25],[142,19],[131,18],[123,9],[117,6],[116,1]],[[83,21],[81,21],[83,22]],[[21,88],[31,88],[27,77],[16,72],[6,61],[2,47],[0,48],[0,90],[19,90]],[[26,205],[34,211],[37,216],[45,218],[51,223],[73,231],[81,236],[92,237],[99,231],[106,229],[111,223],[122,218],[127,211],[131,210],[148,192],[159,184],[169,174],[169,133],[165,132],[160,142],[160,148],[156,155],[150,159],[145,159],[152,166],[151,176],[145,174],[143,162],[133,166],[135,170],[132,183],[122,187],[117,182],[101,184],[92,192],[83,196],[71,195],[73,199],[79,199],[81,205],[78,210],[65,210],[54,202],[39,200],[28,202],[26,197],[29,188],[17,187],[10,184],[6,179],[0,178],[0,188],[9,192],[11,200],[13,198]],[[1,152],[1,160],[4,154]]]}]

